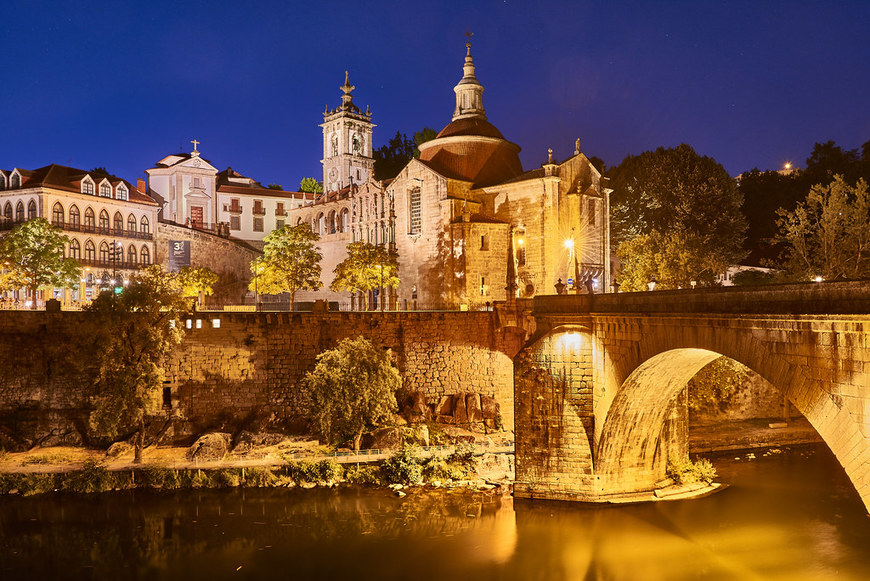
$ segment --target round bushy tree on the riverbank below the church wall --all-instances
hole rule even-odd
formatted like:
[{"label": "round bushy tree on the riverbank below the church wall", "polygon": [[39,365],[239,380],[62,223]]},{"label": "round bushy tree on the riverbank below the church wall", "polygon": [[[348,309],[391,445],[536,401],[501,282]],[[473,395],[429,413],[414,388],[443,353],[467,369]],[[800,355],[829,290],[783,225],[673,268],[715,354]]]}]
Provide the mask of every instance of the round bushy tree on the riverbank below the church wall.
[{"label": "round bushy tree on the riverbank below the church wall", "polygon": [[389,354],[363,337],[343,339],[317,356],[314,371],[302,380],[305,414],[330,443],[353,438],[354,450],[367,428],[398,409],[402,386]]}]

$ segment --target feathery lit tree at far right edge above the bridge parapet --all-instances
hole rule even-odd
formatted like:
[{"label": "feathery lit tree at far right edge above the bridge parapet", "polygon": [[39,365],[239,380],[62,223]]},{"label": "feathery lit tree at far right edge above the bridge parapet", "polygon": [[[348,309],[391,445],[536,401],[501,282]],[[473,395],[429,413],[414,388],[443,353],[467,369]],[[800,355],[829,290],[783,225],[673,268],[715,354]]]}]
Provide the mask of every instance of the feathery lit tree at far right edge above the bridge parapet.
[{"label": "feathery lit tree at far right edge above the bridge parapet", "polygon": [[792,211],[778,212],[781,266],[794,280],[870,277],[870,195],[867,182],[850,186],[836,175],[810,189]]}]

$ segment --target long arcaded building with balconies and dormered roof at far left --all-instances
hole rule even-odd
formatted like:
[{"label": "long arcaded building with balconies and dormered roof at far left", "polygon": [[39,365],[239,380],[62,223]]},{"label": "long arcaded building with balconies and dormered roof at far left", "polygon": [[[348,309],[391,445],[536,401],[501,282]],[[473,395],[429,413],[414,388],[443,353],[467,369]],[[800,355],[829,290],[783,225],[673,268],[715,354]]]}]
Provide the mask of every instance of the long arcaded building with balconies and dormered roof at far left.
[{"label": "long arcaded building with balconies and dormered roof at far left", "polygon": [[[141,189],[140,189],[141,188]],[[119,284],[151,264],[157,203],[144,182],[61,165],[36,170],[0,170],[0,230],[45,218],[69,237],[66,255],[83,266],[78,288],[65,302],[91,299],[100,288]]]}]

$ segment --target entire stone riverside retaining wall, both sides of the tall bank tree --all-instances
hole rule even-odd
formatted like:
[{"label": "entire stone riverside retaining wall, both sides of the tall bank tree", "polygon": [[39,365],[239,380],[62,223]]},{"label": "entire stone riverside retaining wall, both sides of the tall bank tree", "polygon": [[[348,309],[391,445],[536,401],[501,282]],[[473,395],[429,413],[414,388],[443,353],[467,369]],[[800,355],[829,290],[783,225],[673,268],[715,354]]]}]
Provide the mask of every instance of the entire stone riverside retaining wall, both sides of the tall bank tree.
[{"label": "entire stone riverside retaining wall, both sides of the tall bank tree", "polygon": [[[201,313],[180,322],[186,336],[167,366],[166,387],[173,408],[197,428],[269,414],[298,419],[297,383],[315,357],[362,335],[391,350],[406,389],[432,403],[454,393],[492,396],[512,429],[512,357],[523,337],[499,329],[496,315]],[[62,364],[86,316],[0,311],[0,431],[22,410],[75,411],[87,420],[86,378]]]}]

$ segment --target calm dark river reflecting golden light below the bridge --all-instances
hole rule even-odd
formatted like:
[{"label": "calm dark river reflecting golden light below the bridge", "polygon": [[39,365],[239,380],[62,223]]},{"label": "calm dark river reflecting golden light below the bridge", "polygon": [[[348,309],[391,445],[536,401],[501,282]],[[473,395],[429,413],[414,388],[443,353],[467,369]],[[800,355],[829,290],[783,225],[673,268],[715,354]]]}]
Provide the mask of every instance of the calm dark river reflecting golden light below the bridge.
[{"label": "calm dark river reflecting golden light below the bridge", "polygon": [[619,507],[368,489],[0,499],[0,579],[870,579],[824,446],[713,457],[727,490]]}]

